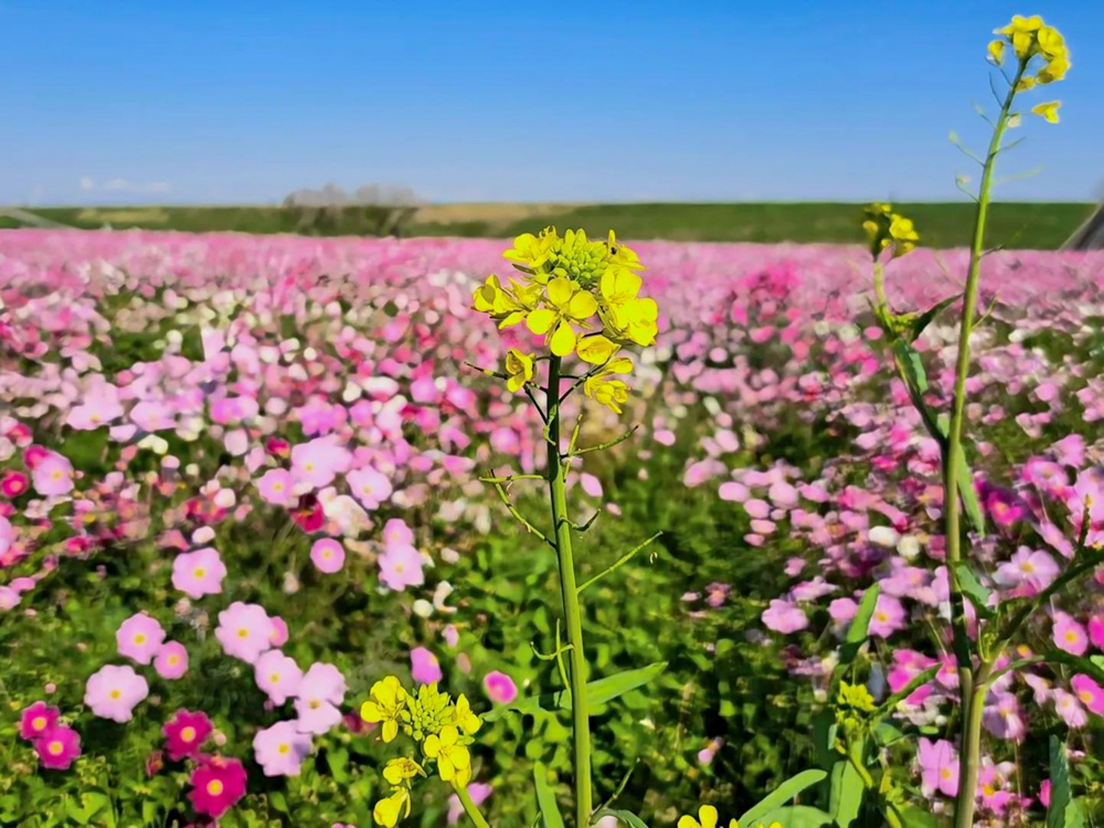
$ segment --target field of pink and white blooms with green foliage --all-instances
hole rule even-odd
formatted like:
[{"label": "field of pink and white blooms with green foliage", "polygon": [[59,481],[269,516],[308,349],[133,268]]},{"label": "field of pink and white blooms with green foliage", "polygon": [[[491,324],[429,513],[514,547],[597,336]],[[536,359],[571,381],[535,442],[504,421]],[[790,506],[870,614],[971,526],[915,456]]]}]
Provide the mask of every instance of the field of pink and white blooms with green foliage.
[{"label": "field of pink and white blooms with green foliage", "polygon": [[[369,826],[389,757],[357,715],[373,682],[440,680],[480,713],[555,688],[534,655],[555,646],[554,556],[477,479],[545,455],[534,411],[469,367],[529,338],[470,309],[503,246],[0,233],[0,825]],[[668,667],[596,714],[597,798],[635,768],[618,802],[667,826],[825,762],[818,705],[878,582],[874,698],[945,667],[898,712],[922,737],[884,743],[938,814],[958,773],[940,450],[891,379],[869,254],[634,248],[657,346],[625,414],[585,423],[592,443],[639,429],[571,485],[598,512],[581,577],[664,532],[594,588],[593,664]],[[892,302],[960,290],[966,259],[891,263]],[[1104,542],[1104,254],[994,254],[981,296],[974,554],[991,588],[1033,595],[1082,514]],[[956,337],[948,312],[917,342],[944,406]],[[1104,650],[1096,583],[1019,655],[1043,640]],[[1051,733],[1078,789],[1104,786],[1104,689],[1072,672],[996,681],[985,824],[1043,818]],[[485,724],[470,793],[492,824],[534,822],[529,762],[566,772],[566,734],[549,714]],[[448,793],[414,821],[455,822]]]}]

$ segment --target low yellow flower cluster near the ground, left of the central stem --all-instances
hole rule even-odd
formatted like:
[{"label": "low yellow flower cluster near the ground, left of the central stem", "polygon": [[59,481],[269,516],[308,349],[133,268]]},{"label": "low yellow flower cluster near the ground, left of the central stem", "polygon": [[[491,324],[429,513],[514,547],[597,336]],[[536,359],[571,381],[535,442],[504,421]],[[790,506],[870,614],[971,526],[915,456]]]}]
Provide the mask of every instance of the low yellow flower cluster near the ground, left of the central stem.
[{"label": "low yellow flower cluster near the ground, left of the central stem", "polygon": [[418,776],[427,775],[425,764],[435,763],[437,775],[456,787],[465,787],[471,778],[467,746],[482,722],[463,693],[454,703],[436,684],[423,684],[413,692],[396,677],[388,676],[372,686],[371,699],[361,705],[360,716],[382,725],[384,742],[393,741],[402,730],[422,747],[421,762],[403,756],[391,760],[383,768],[391,794],[372,810],[376,825],[393,828],[402,817],[410,816],[411,787]]}]

